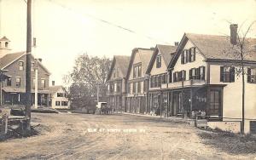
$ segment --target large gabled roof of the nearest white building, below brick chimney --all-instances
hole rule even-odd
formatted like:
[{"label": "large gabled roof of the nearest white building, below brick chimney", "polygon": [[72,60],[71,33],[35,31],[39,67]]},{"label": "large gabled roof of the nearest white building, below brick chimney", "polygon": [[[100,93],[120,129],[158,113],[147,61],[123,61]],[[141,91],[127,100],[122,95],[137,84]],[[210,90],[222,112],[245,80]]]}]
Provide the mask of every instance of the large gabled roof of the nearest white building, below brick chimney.
[{"label": "large gabled roof of the nearest white building, below brick chimney", "polygon": [[[184,33],[181,42],[177,47],[177,54],[175,58],[171,60],[169,67],[173,67],[177,61],[178,56],[184,45],[190,41],[200,50],[201,54],[206,60],[239,60],[240,54],[237,52],[237,47],[230,43],[229,36],[218,35],[203,35],[195,33]],[[244,49],[247,54],[244,60],[256,61],[256,38],[246,38]],[[168,68],[169,68],[168,67]]]}]

